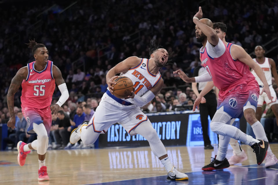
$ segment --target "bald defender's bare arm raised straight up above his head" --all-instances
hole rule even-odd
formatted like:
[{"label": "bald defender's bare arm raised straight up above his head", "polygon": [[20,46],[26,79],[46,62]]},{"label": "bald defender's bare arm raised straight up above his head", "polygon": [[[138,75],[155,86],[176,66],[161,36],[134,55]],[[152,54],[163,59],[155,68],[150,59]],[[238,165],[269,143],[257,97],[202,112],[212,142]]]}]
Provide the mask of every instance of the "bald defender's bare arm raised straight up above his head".
[{"label": "bald defender's bare arm raised straight up above his head", "polygon": [[208,25],[199,21],[202,17],[202,8],[199,6],[199,11],[193,17],[193,23],[195,23],[195,25],[197,25],[202,30],[203,34],[207,36],[209,43],[211,43],[213,46],[216,46],[219,42],[219,37],[212,27],[209,27]]}]

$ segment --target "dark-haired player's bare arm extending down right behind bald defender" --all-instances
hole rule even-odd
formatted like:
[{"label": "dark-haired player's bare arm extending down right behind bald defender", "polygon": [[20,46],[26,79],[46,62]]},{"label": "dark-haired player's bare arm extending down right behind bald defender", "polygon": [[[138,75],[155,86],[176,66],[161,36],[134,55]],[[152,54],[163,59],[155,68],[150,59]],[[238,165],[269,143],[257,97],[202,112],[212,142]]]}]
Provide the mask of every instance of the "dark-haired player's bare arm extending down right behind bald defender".
[{"label": "dark-haired player's bare arm extending down right behind bald defender", "polygon": [[235,44],[231,46],[231,55],[235,60],[240,60],[241,62],[247,64],[250,68],[252,68],[255,71],[255,73],[258,75],[258,77],[264,84],[261,94],[263,92],[266,92],[268,99],[272,99],[269,86],[266,81],[266,76],[264,75],[264,72],[259,66],[259,64],[254,62],[254,60],[246,53],[246,51],[242,47]]}]

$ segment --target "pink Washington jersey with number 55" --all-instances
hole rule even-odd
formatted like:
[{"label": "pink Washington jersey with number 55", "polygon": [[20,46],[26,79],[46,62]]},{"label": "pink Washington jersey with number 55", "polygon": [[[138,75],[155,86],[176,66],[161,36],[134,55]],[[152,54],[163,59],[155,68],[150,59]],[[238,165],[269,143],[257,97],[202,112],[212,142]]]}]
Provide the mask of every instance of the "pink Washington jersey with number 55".
[{"label": "pink Washington jersey with number 55", "polygon": [[43,109],[51,105],[55,89],[55,79],[52,74],[53,62],[48,60],[42,71],[36,71],[34,64],[35,61],[27,64],[28,76],[21,84],[21,104],[25,107]]}]

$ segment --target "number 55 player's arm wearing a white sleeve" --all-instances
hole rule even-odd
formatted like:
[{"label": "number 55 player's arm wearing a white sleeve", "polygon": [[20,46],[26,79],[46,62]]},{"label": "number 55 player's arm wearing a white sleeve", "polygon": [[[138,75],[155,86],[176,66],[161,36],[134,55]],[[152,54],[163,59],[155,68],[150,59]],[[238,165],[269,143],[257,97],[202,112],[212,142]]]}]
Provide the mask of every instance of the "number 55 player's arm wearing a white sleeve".
[{"label": "number 55 player's arm wearing a white sleeve", "polygon": [[53,77],[55,79],[55,82],[61,92],[61,96],[58,99],[57,103],[55,105],[51,106],[51,111],[53,114],[57,114],[59,108],[67,101],[67,99],[69,98],[69,91],[67,90],[67,85],[65,83],[65,80],[62,77],[62,73],[60,71],[60,69],[53,65],[52,67],[52,71],[53,71]]}]

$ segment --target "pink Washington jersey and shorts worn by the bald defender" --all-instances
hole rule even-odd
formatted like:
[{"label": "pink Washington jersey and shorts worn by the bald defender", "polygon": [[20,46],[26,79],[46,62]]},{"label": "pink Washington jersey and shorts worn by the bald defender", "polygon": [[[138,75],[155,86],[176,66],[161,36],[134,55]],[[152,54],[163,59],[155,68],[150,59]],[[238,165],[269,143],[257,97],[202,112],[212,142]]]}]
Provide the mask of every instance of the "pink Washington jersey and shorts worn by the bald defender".
[{"label": "pink Washington jersey and shorts worn by the bald defender", "polygon": [[200,58],[219,89],[218,108],[223,106],[224,112],[232,118],[240,117],[248,99],[248,88],[229,49],[221,39],[215,47],[206,42],[206,46],[200,49]]}]

